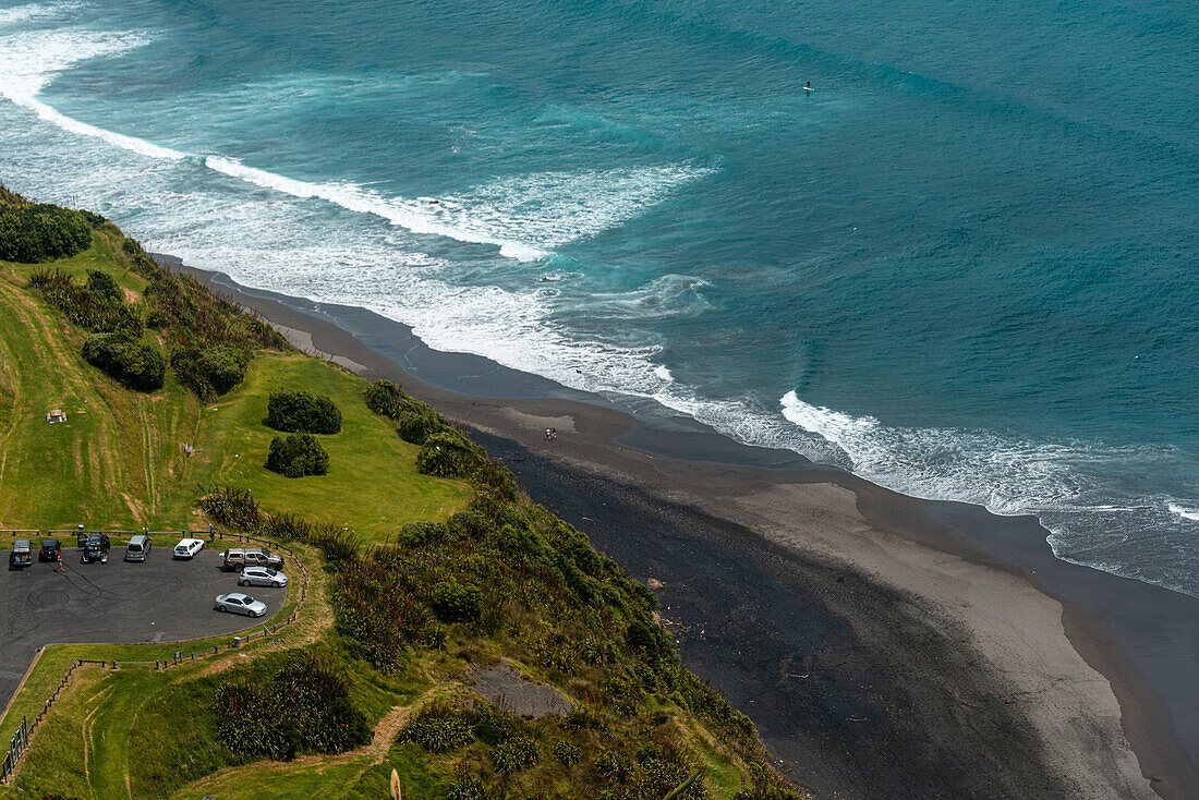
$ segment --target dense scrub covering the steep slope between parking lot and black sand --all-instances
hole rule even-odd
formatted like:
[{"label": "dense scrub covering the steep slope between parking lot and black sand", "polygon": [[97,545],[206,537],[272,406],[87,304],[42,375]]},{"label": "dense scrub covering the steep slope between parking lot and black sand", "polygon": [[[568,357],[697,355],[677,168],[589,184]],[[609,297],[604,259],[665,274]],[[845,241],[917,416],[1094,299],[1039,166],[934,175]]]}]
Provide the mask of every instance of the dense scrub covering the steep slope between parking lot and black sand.
[{"label": "dense scrub covering the steep slope between parking lot and black sand", "polygon": [[[397,422],[416,405],[394,384],[375,384],[366,401]],[[571,687],[567,716],[522,720],[477,699],[422,708],[398,741],[457,764],[438,796],[532,796],[532,787],[565,780],[566,796],[661,800],[704,766],[665,711],[681,709],[755,765],[742,800],[797,798],[765,766],[752,722],[680,666],[653,593],[530,503],[464,433],[416,408],[440,431],[421,456],[452,438],[470,464],[475,498],[445,523],[404,525],[386,547],[338,548],[335,531],[266,515],[248,493],[213,489],[201,506],[224,524],[320,545],[336,564],[337,631],[353,657],[385,675],[427,652],[471,662],[498,650]],[[711,792],[698,777],[676,796]]]}]

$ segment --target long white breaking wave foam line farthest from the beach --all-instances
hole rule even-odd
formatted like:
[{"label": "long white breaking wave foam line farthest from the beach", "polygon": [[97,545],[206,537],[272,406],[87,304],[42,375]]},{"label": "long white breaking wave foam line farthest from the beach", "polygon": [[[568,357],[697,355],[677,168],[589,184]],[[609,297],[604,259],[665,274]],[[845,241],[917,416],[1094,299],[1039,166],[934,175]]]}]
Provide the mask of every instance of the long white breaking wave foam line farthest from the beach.
[{"label": "long white breaking wave foam line farthest from the beach", "polygon": [[[56,16],[73,7],[77,4],[22,6],[8,14],[8,22]],[[458,198],[392,199],[354,184],[305,181],[219,154],[191,154],[153,144],[74,119],[38,100],[55,76],[79,62],[123,55],[150,41],[152,36],[143,31],[54,30],[0,37],[0,94],[62,130],[140,156],[197,161],[260,188],[300,199],[321,199],[416,234],[493,245],[501,255],[522,261],[544,259],[550,247],[616,227],[661,201],[675,186],[712,172],[707,167],[670,164],[535,173],[496,179]]]}]

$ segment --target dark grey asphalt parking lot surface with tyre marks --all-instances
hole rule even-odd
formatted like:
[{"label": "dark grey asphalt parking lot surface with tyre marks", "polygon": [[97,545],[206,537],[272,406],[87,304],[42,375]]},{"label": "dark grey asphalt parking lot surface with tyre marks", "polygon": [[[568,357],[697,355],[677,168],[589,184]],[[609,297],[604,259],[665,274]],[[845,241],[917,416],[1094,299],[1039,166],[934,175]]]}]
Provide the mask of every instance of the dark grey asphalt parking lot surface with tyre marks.
[{"label": "dark grey asphalt parking lot surface with tyre marks", "polygon": [[[210,551],[205,546],[191,561],[176,561],[170,557],[174,545],[155,542],[143,563],[122,561],[125,547],[113,545],[108,564],[79,564],[79,551],[65,547],[65,575],[55,573],[53,564],[37,561],[41,540],[34,541],[34,565],[20,571],[8,570],[8,551],[0,552],[0,709],[37,648],[47,644],[169,642],[234,633],[269,620],[283,606],[287,589],[240,589],[236,573],[221,569],[221,547]],[[213,610],[213,599],[228,591],[261,600],[266,616],[251,620]]]}]

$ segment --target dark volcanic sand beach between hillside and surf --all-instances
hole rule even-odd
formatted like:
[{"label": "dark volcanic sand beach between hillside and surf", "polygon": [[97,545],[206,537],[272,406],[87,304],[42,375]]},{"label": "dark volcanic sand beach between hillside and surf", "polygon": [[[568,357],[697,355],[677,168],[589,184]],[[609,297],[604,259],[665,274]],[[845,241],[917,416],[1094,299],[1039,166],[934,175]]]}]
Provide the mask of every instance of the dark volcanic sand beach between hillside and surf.
[{"label": "dark volcanic sand beach between hillside and surf", "polygon": [[817,796],[1199,798],[1199,601],[1058,561],[1035,519],[628,414],[362,309],[213,289],[307,351],[403,380],[662,581],[683,662]]}]

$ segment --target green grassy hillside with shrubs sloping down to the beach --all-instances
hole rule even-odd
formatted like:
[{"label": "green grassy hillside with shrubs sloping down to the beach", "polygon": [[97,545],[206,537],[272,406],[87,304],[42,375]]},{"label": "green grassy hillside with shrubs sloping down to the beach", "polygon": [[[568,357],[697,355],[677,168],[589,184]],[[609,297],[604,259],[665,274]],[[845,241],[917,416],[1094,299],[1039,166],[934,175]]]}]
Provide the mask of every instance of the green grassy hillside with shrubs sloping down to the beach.
[{"label": "green grassy hillside with shrubs sloping down to the beach", "polygon": [[[0,247],[6,203],[20,199],[0,190]],[[313,582],[297,624],[241,649],[169,672],[77,670],[0,800],[385,798],[392,769],[409,799],[800,796],[748,718],[679,664],[652,593],[460,431],[390,385],[374,387],[390,405],[368,408],[363,379],[290,350],[88,219],[90,247],[0,261],[0,527],[206,527],[201,495],[227,487],[235,501],[205,505],[212,522],[290,539]],[[123,347],[170,363],[161,387],[134,391],[83,357],[89,336],[108,333],[37,288],[67,285],[48,270],[68,291],[110,285],[96,271],[115,279],[120,297],[103,302],[135,317]],[[245,360],[224,393],[197,366],[212,351]],[[317,437],[326,475],[264,468],[276,389],[341,409],[341,432]],[[47,423],[52,408],[67,422]],[[74,658],[174,649],[52,645],[0,735]],[[476,694],[472,675],[501,660],[573,710],[523,717]]]}]

